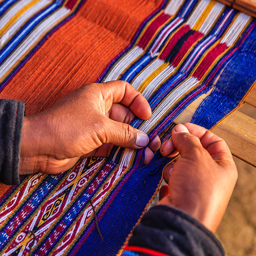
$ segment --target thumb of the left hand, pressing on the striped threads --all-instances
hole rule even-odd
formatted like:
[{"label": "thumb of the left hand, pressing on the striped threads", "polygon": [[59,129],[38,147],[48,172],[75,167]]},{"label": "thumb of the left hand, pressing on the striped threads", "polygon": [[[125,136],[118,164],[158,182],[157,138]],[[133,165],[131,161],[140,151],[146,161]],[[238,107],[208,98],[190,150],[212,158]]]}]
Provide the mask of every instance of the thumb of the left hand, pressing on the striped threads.
[{"label": "thumb of the left hand, pressing on the striped threads", "polygon": [[105,122],[105,143],[111,143],[123,148],[141,149],[148,145],[146,133],[133,128],[127,123],[121,123],[108,118]]}]

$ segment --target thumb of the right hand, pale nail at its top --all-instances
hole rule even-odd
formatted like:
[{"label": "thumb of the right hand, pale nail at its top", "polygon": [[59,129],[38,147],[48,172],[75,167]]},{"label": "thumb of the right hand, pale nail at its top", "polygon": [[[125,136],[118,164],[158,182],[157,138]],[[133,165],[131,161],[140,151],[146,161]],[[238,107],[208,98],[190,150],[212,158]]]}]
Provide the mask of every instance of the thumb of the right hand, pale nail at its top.
[{"label": "thumb of the right hand, pale nail at its top", "polygon": [[195,159],[202,154],[203,148],[200,139],[189,133],[183,124],[176,125],[172,130],[172,143],[182,157]]}]

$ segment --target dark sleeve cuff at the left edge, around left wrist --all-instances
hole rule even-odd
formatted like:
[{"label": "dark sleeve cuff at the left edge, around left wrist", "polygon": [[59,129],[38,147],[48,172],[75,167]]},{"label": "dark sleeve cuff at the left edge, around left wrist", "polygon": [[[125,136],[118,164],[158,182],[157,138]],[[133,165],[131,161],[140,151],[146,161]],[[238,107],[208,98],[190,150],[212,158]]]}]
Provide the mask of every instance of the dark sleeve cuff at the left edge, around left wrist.
[{"label": "dark sleeve cuff at the left edge, around left wrist", "polygon": [[20,183],[20,137],[25,103],[0,99],[0,182]]}]

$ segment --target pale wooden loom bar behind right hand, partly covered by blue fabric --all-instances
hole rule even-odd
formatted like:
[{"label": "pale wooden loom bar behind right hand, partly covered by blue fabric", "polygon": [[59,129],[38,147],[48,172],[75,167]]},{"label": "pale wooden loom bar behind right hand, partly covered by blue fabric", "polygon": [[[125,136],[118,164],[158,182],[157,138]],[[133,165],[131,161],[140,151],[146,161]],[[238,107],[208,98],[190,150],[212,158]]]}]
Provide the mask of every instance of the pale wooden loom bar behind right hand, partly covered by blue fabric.
[{"label": "pale wooden loom bar behind right hand, partly covered by blue fabric", "polygon": [[[254,90],[255,92],[255,90]],[[250,93],[251,94],[251,93]],[[249,95],[250,95],[249,94]],[[186,123],[207,95],[193,101],[175,120],[174,123]],[[255,98],[254,98],[255,99]],[[219,123],[212,132],[223,138],[233,156],[256,166],[256,120],[236,110]]]}]

